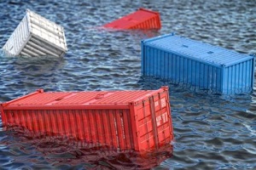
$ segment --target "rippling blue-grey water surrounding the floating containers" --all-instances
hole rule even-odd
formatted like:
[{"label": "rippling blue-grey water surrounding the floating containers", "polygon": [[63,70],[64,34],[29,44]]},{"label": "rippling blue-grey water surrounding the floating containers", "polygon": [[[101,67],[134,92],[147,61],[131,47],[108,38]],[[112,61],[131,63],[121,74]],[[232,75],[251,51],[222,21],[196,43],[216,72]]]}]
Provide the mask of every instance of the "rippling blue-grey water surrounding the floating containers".
[{"label": "rippling blue-grey water surrounding the floating containers", "polygon": [[[173,152],[148,158],[105,153],[60,139],[32,139],[0,121],[0,169],[256,169],[256,83],[251,94],[224,96],[141,75],[140,41],[171,32],[256,54],[255,0],[1,0],[0,47],[26,8],[65,29],[63,59],[7,57],[0,51],[0,102],[45,91],[170,87]],[[160,31],[108,31],[112,20],[149,8]],[[160,161],[160,162],[158,162]],[[148,164],[148,166],[145,166]],[[152,165],[152,166],[151,166]],[[151,166],[151,167],[150,167]]]}]

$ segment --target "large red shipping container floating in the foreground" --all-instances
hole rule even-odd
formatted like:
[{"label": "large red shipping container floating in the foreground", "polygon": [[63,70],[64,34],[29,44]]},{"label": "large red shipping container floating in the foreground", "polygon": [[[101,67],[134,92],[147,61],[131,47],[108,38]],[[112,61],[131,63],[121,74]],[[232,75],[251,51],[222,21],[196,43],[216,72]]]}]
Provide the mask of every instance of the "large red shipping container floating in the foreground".
[{"label": "large red shipping container floating in the foreground", "polygon": [[173,139],[168,87],[158,90],[37,92],[0,105],[3,126],[120,150],[154,150]]}]

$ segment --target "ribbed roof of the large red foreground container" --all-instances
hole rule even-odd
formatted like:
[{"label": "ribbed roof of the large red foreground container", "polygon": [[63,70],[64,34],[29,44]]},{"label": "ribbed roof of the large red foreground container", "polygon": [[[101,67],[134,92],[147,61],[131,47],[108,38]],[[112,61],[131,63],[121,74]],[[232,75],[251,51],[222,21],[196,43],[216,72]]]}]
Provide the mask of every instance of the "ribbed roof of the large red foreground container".
[{"label": "ribbed roof of the large red foreground container", "polygon": [[128,105],[160,90],[46,92],[28,94],[5,103],[5,106],[29,105]]}]

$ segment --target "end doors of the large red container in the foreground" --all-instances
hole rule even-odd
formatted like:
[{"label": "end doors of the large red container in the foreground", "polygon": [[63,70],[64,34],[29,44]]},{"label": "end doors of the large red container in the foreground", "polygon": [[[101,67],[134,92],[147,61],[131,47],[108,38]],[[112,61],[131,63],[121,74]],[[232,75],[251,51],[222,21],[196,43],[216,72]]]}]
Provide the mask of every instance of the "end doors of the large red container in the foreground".
[{"label": "end doors of the large red container in the foreground", "polygon": [[134,107],[137,127],[137,150],[159,149],[169,144],[173,136],[171,107],[167,88]]}]

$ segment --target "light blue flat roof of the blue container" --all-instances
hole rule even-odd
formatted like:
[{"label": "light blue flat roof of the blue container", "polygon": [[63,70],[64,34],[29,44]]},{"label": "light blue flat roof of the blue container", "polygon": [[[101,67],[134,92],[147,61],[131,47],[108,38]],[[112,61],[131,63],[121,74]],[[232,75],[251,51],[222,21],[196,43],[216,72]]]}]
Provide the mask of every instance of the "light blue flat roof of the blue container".
[{"label": "light blue flat roof of the blue container", "polygon": [[144,43],[150,47],[160,48],[191,59],[198,59],[212,65],[235,65],[247,59],[253,59],[253,56],[248,54],[240,54],[226,48],[176,36],[173,33],[144,40]]}]

